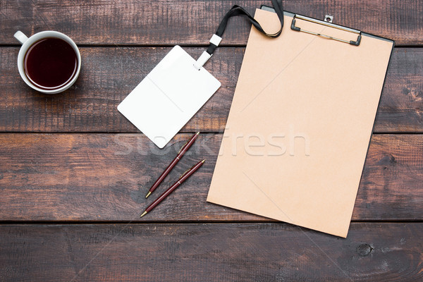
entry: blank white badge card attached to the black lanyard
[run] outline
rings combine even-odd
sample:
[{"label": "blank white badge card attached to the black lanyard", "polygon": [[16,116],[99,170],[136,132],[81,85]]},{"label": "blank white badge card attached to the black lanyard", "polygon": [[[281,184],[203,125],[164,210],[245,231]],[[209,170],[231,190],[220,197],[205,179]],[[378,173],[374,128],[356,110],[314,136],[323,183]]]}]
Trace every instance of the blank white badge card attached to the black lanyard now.
[{"label": "blank white badge card attached to the black lanyard", "polygon": [[118,111],[163,148],[219,89],[221,83],[175,46],[130,92]]}]

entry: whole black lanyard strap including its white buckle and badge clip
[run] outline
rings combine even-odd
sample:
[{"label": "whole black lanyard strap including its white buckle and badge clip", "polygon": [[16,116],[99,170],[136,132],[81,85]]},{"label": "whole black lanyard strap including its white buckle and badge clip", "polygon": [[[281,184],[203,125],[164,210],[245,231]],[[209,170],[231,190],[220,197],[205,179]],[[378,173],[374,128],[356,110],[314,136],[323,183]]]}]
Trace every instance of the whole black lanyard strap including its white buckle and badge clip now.
[{"label": "whole black lanyard strap including its white buckle and badge clip", "polygon": [[278,30],[278,32],[271,33],[271,34],[265,32],[263,30],[262,25],[260,25],[259,22],[257,22],[257,20],[255,20],[255,18],[253,18],[250,15],[250,13],[245,11],[245,9],[243,7],[240,7],[238,5],[234,5],[231,8],[231,10],[229,10],[228,13],[226,13],[226,15],[221,20],[219,27],[217,27],[216,34],[214,34],[212,36],[212,38],[210,39],[209,47],[207,48],[206,51],[203,52],[203,54],[200,56],[200,58],[195,63],[195,65],[194,65],[195,68],[200,70],[200,68],[204,65],[204,63],[206,63],[210,59],[210,57],[213,55],[214,51],[216,50],[216,48],[219,46],[219,43],[221,42],[221,39],[222,39],[221,37],[223,35],[223,32],[225,32],[226,25],[228,25],[228,20],[231,17],[245,16],[247,18],[247,20],[249,20],[250,23],[252,23],[252,25],[254,25],[254,27],[257,28],[257,30],[259,30],[259,32],[262,32],[264,35],[266,35],[268,37],[276,38],[279,35],[281,35],[282,27],[283,27],[282,1],[281,0],[271,0],[271,3],[273,4],[274,10],[275,10],[276,14],[278,15],[279,21],[281,22],[281,28]]}]

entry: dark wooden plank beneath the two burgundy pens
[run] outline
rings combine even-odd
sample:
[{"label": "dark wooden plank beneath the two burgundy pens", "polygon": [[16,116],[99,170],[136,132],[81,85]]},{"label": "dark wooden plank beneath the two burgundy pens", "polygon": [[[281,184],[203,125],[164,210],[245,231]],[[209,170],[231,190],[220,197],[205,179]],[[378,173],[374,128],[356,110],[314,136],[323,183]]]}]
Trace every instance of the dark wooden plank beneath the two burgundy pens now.
[{"label": "dark wooden plank beneath the two burgundy pens", "polygon": [[[269,221],[206,202],[221,134],[202,134],[157,190],[206,163],[154,212],[145,194],[190,134],[159,150],[141,134],[0,135],[3,221]],[[353,220],[422,220],[423,136],[374,135]]]}]

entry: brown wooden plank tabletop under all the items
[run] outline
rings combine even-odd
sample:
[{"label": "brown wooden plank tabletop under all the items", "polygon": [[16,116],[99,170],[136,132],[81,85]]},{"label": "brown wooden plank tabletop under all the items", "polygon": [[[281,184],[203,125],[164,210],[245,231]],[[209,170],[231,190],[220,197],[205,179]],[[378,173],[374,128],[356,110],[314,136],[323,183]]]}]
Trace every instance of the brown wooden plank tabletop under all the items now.
[{"label": "brown wooden plank tabletop under all the items", "polygon": [[[233,4],[253,12],[270,1],[1,1],[0,281],[422,281],[423,2],[283,2],[396,40],[348,238],[206,203],[245,20],[231,19],[207,63],[222,87],[167,149],[116,110],[174,44],[196,58]],[[25,85],[16,30],[75,40],[71,90]],[[206,164],[139,219],[147,189],[197,130],[197,149],[160,189]]]}]

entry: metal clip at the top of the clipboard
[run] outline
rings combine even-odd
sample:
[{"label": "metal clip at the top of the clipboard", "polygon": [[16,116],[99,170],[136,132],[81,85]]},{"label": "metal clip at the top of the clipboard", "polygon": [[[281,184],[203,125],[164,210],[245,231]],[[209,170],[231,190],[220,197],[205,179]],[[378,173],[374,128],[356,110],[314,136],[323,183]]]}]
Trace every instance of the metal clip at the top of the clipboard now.
[{"label": "metal clip at the top of the clipboard", "polygon": [[[338,30],[343,30],[343,31],[346,31],[346,32],[353,32],[353,33],[357,34],[358,37],[357,37],[357,40],[355,40],[355,41],[353,41],[353,40],[348,41],[348,40],[345,40],[345,39],[341,39],[341,38],[337,38],[337,37],[331,37],[329,35],[323,35],[321,33],[312,32],[312,31],[309,31],[309,30],[302,30],[300,27],[295,26],[295,18],[298,18],[300,20],[307,20],[308,22],[317,23],[319,25],[326,25],[327,27],[337,28]],[[328,21],[316,20],[314,18],[308,18],[308,17],[305,17],[305,16],[295,14],[293,21],[291,23],[291,30],[306,32],[306,33],[309,33],[310,35],[317,35],[317,36],[320,36],[320,37],[324,37],[324,38],[327,38],[327,39],[333,39],[333,40],[336,40],[336,41],[339,41],[339,42],[344,42],[344,43],[348,43],[348,44],[355,45],[355,46],[360,45],[360,42],[361,42],[361,31],[360,30],[353,30],[352,28],[349,28],[349,27],[343,27],[341,25],[334,25],[333,23],[331,23],[331,21],[333,19],[332,16],[326,15],[324,18],[325,18],[325,20],[326,19],[329,19],[329,20]]]}]

